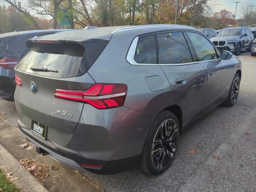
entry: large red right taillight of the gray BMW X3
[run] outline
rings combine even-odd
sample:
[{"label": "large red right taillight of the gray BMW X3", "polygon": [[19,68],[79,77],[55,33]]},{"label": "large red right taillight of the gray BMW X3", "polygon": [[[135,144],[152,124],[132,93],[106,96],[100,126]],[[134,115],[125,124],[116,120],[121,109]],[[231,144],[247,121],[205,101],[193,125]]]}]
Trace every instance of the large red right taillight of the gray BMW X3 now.
[{"label": "large red right taillight of the gray BMW X3", "polygon": [[108,109],[123,106],[126,93],[126,84],[96,83],[84,91],[56,89],[54,96],[60,99],[88,103],[97,109]]}]

